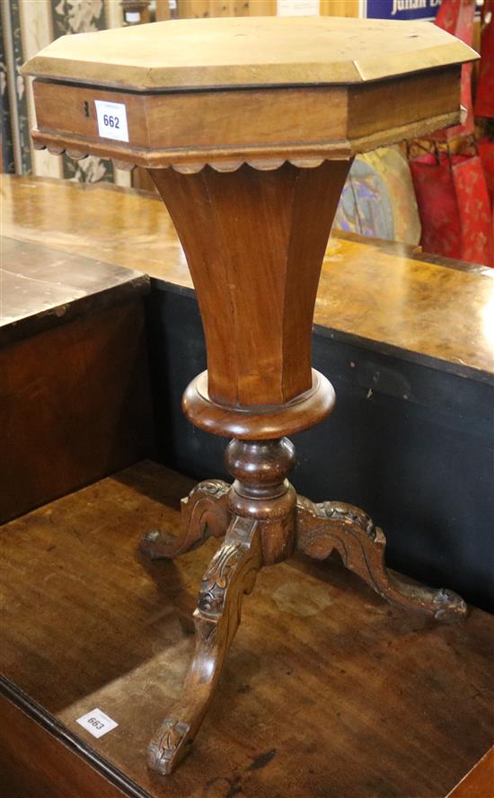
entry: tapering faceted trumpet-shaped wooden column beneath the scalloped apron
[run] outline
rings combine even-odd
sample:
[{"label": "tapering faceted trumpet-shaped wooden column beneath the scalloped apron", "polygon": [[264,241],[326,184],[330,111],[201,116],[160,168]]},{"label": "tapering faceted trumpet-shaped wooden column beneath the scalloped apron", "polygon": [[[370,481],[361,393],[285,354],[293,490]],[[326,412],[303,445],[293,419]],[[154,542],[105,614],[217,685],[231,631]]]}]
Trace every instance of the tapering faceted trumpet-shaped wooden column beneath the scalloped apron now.
[{"label": "tapering faceted trumpet-shaped wooden column beneath the scalloped apron", "polygon": [[151,172],[198,294],[213,401],[283,404],[312,388],[313,308],[348,168]]}]

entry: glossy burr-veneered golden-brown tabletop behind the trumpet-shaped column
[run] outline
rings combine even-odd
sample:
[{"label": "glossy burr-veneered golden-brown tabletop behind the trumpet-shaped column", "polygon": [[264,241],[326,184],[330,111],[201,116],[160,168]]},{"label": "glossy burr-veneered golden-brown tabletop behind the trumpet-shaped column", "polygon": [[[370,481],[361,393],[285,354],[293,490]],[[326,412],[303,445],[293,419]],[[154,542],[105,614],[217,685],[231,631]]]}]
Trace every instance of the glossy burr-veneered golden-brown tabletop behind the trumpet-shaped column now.
[{"label": "glossy burr-veneered golden-brown tabletop behind the trumpet-shaped column", "polygon": [[[2,200],[4,235],[192,287],[171,219],[151,194],[3,175]],[[314,323],[491,380],[494,270],[435,260],[405,245],[332,236]]]}]

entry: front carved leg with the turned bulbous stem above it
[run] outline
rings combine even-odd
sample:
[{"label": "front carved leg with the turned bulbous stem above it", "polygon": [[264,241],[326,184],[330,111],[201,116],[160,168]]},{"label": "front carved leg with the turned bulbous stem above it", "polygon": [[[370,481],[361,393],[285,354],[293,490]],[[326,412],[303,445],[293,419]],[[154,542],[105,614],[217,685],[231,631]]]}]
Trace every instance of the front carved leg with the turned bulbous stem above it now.
[{"label": "front carved leg with the turned bulbous stem above it", "polygon": [[[286,438],[232,440],[226,448],[225,463],[235,477],[225,493],[232,520],[201,582],[194,613],[196,651],[181,700],[148,749],[149,767],[159,773],[172,773],[198,732],[240,624],[243,593],[251,592],[261,565],[293,552],[296,492],[286,476],[294,462]],[[224,510],[223,502],[220,507]]]}]

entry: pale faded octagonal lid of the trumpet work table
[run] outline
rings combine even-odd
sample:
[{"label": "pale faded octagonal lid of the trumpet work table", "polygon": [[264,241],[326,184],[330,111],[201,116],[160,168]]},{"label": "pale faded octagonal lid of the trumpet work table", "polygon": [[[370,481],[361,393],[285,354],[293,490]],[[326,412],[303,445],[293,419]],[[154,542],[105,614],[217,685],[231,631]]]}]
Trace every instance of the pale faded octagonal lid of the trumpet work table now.
[{"label": "pale faded octagonal lid of the trumpet work table", "polygon": [[232,17],[63,36],[22,71],[150,92],[361,84],[474,58],[471,48],[429,22]]}]

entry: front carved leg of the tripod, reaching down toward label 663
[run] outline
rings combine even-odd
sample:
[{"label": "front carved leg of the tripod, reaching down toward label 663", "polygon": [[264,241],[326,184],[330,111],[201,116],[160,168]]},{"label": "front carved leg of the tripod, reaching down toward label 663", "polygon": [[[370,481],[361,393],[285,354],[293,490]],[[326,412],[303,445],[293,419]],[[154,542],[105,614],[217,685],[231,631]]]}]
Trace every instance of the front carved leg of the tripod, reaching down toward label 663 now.
[{"label": "front carved leg of the tripod, reaching down toward label 663", "polygon": [[168,775],[189,752],[240,624],[243,594],[251,592],[260,564],[259,522],[235,517],[201,582],[194,659],[180,701],[149,745],[153,770]]}]

